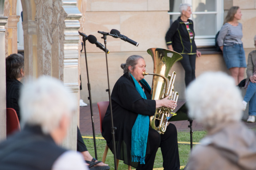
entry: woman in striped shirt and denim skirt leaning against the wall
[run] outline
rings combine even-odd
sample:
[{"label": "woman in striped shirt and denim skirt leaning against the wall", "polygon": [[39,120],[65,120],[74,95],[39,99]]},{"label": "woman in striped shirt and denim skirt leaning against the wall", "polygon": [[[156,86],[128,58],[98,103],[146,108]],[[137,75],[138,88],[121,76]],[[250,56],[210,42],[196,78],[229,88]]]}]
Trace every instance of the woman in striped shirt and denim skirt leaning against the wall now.
[{"label": "woman in striped shirt and denim skirt leaning against the wall", "polygon": [[241,16],[242,13],[238,6],[231,7],[217,39],[226,67],[230,70],[236,85],[244,79],[246,68],[245,52],[241,41],[242,24],[238,22]]}]

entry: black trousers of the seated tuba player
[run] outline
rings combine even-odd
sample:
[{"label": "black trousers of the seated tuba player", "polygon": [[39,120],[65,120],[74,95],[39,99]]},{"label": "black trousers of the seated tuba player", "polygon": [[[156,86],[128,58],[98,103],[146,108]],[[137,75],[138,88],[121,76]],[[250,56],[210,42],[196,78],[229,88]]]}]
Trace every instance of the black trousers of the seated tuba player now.
[{"label": "black trousers of the seated tuba player", "polygon": [[169,124],[163,135],[149,128],[150,154],[145,157],[145,164],[139,164],[137,170],[153,169],[156,152],[161,148],[164,170],[179,170],[180,157],[178,153],[177,129]]}]

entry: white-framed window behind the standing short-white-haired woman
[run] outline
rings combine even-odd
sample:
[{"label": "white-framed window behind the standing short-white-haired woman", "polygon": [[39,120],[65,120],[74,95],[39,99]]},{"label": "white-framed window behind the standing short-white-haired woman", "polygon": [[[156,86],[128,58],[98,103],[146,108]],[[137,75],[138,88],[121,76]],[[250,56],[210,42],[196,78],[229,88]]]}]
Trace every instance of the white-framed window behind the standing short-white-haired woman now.
[{"label": "white-framed window behind the standing short-white-haired woman", "polygon": [[194,23],[196,45],[214,46],[215,35],[223,25],[223,0],[170,0],[170,24],[180,16],[181,3],[192,6],[190,19]]}]

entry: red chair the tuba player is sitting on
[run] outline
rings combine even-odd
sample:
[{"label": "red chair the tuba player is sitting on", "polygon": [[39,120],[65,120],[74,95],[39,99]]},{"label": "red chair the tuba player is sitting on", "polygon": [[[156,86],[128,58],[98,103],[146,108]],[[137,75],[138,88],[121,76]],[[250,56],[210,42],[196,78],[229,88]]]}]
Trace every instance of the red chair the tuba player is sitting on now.
[{"label": "red chair the tuba player is sitting on", "polygon": [[[98,102],[97,104],[98,104],[98,109],[99,109],[99,113],[100,113],[100,127],[101,127],[101,123],[106,114],[109,102],[108,101]],[[101,129],[101,132],[102,132],[102,129]],[[102,160],[101,160],[103,163],[105,163],[105,161],[106,161],[107,152],[108,152],[108,146],[106,144],[105,150],[103,152]],[[117,159],[117,168],[118,168],[118,164],[119,164],[119,159]],[[132,170],[132,167],[130,165],[128,165],[128,170]]]}]

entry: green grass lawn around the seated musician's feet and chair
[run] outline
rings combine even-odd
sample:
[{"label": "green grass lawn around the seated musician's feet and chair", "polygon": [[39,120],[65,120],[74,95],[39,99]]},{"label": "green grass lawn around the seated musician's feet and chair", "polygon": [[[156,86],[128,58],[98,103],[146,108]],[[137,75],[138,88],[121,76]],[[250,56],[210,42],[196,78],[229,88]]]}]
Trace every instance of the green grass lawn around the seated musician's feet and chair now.
[{"label": "green grass lawn around the seated musician's feet and chair", "polygon": [[[207,134],[206,131],[194,131],[193,142],[199,142],[204,136],[206,136],[206,134]],[[102,136],[101,134],[98,134],[96,135],[96,137],[102,137]],[[86,144],[88,151],[92,155],[92,157],[95,157],[93,140],[84,138],[84,142]],[[178,142],[190,142],[190,132],[178,131]],[[101,139],[96,139],[96,145],[97,145],[98,160],[101,160],[105,146],[106,146],[106,141]],[[180,155],[180,165],[186,166],[189,155],[190,155],[190,144],[179,143],[178,149],[179,149],[179,155]],[[108,151],[108,154],[107,154],[106,163],[111,167],[111,169],[114,169],[114,156],[110,150]],[[156,153],[154,168],[161,168],[161,167],[162,167],[162,154],[161,154],[161,149],[159,148],[158,152]],[[128,169],[127,165],[124,164],[122,160],[120,160],[118,165],[118,170],[127,170],[127,169]]]}]

